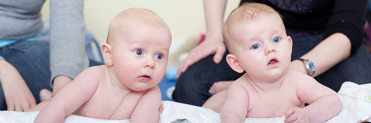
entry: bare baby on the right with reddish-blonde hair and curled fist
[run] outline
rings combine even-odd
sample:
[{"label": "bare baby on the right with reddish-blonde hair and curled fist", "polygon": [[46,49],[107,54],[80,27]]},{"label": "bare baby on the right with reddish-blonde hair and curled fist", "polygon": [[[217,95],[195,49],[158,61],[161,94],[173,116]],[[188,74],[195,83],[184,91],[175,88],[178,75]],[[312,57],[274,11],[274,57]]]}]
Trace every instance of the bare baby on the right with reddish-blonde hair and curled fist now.
[{"label": "bare baby on the right with reddish-blonde hair and curled fist", "polygon": [[229,66],[246,74],[203,105],[220,111],[222,123],[283,115],[285,123],[322,123],[342,109],[335,91],[289,68],[292,39],[273,8],[245,3],[234,9],[223,26],[223,38]]}]

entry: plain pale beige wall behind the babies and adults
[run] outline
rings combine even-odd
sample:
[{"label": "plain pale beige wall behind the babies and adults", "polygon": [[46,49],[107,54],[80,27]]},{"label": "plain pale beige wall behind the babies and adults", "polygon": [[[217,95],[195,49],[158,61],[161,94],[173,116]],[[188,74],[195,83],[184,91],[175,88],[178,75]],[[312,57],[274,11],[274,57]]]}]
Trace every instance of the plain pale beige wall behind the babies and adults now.
[{"label": "plain pale beige wall behind the babies and adults", "polygon": [[[240,0],[227,1],[225,17]],[[119,12],[132,8],[147,8],[158,14],[169,26],[173,36],[170,65],[177,65],[177,55],[193,48],[205,33],[202,0],[85,0],[85,26],[99,43],[106,41],[109,22]],[[49,19],[49,0],[43,5],[42,18]]]}]

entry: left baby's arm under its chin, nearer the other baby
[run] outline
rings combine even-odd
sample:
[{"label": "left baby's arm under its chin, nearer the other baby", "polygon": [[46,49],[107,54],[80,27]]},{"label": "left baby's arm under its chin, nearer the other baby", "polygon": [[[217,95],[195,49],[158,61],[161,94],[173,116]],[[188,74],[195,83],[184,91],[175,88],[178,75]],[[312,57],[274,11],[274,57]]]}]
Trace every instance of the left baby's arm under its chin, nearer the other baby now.
[{"label": "left baby's arm under its chin, nearer the other baby", "polygon": [[161,91],[156,85],[150,88],[139,99],[137,106],[130,117],[131,123],[158,123],[160,120],[159,108],[161,105]]}]

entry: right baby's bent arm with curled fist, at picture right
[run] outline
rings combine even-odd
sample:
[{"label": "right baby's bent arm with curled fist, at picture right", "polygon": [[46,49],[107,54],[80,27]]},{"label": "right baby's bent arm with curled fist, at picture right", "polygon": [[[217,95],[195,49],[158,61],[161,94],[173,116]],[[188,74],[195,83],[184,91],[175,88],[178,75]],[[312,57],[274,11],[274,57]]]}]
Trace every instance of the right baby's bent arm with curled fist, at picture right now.
[{"label": "right baby's bent arm with curled fist, at picture right", "polygon": [[322,123],[338,115],[342,109],[342,102],[335,91],[318,83],[310,76],[306,75],[302,80],[304,81],[295,82],[296,94],[301,102],[309,105],[288,110],[285,123],[294,121]]}]

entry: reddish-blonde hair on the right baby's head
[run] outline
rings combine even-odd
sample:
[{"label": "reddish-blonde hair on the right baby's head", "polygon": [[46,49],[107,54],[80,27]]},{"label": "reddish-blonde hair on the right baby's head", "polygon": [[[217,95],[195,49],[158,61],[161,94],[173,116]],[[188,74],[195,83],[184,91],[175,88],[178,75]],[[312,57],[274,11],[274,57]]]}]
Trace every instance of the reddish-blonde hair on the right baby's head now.
[{"label": "reddish-blonde hair on the right baby's head", "polygon": [[242,4],[241,6],[235,8],[231,14],[228,16],[226,22],[223,25],[223,39],[227,45],[227,48],[230,53],[231,51],[231,29],[236,26],[237,24],[247,23],[249,21],[254,21],[255,18],[259,17],[260,15],[269,15],[269,14],[278,14],[281,18],[282,16],[275,11],[272,7],[269,7],[265,4],[260,3],[251,3],[247,2]]}]

